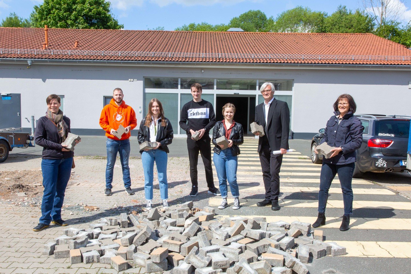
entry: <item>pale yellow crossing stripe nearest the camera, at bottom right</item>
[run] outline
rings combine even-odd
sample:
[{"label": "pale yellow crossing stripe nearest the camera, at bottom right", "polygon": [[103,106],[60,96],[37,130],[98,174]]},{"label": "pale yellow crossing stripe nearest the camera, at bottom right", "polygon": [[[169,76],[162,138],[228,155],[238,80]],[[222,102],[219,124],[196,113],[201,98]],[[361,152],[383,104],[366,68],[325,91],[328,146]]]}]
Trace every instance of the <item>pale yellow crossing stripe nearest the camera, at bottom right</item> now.
[{"label": "pale yellow crossing stripe nearest the camera, at bottom right", "polygon": [[[345,257],[370,258],[411,258],[410,242],[366,242],[366,241],[325,241],[336,242],[347,250]],[[404,272],[406,273],[406,272]]]}]

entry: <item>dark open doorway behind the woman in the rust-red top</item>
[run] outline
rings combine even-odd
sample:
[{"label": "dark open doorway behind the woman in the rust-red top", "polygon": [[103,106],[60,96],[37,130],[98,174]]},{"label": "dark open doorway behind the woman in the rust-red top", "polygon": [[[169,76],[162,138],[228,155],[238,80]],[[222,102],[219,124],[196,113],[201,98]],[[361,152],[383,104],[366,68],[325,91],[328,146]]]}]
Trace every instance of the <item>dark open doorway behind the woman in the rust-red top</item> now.
[{"label": "dark open doorway behind the woman in the rust-red top", "polygon": [[[255,96],[254,96],[255,98]],[[234,104],[236,106],[236,114],[234,114],[234,121],[236,123],[240,123],[244,130],[244,134],[248,132],[248,97],[235,97],[232,95],[230,97],[216,97],[216,104],[215,104],[215,117],[217,121],[222,121],[223,117],[223,106],[227,103]],[[254,99],[255,104],[255,99]],[[253,114],[254,117],[254,114]]]}]

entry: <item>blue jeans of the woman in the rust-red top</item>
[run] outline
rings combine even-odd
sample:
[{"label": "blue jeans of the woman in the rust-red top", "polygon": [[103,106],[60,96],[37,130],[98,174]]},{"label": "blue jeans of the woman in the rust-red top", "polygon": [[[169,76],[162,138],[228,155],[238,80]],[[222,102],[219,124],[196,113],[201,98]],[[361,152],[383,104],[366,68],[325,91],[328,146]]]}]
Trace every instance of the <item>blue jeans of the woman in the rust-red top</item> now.
[{"label": "blue jeans of the woman in the rust-red top", "polygon": [[233,198],[238,198],[240,193],[237,184],[237,156],[233,156],[231,148],[226,148],[221,150],[220,154],[214,152],[212,161],[217,171],[221,198],[227,198],[227,180],[230,184],[231,195]]}]

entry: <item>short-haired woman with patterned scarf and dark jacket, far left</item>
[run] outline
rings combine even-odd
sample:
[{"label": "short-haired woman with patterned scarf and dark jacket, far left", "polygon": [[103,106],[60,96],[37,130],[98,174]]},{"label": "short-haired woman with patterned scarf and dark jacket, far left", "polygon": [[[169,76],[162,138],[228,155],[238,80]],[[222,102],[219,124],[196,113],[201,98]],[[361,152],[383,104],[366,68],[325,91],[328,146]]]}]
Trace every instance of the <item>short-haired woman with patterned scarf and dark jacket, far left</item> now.
[{"label": "short-haired woman with patterned scarf and dark jacket, far left", "polygon": [[70,132],[70,119],[63,116],[63,112],[60,110],[60,97],[51,94],[47,97],[46,103],[46,116],[39,118],[34,134],[36,145],[43,147],[44,187],[42,216],[39,224],[33,228],[34,231],[48,228],[50,222],[59,226],[68,225],[61,219],[61,207],[74,164],[74,153],[65,148],[67,145],[61,144]]}]

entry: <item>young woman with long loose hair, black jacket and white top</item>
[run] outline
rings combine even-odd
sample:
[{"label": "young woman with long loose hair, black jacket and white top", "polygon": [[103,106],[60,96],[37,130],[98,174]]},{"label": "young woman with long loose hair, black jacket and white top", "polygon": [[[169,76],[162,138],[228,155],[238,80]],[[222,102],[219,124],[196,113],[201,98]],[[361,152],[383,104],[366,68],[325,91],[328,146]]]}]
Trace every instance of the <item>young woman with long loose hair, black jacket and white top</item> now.
[{"label": "young woman with long loose hair, black jacket and white top", "polygon": [[163,207],[168,207],[167,153],[169,153],[169,148],[167,145],[171,144],[173,140],[173,127],[171,127],[169,119],[164,117],[163,106],[157,98],[151,99],[148,104],[148,113],[141,120],[138,138],[139,144],[144,141],[157,143],[157,146],[151,150],[140,150],[144,170],[144,193],[147,200],[147,209],[152,208],[154,162],[157,166],[160,198]]}]

